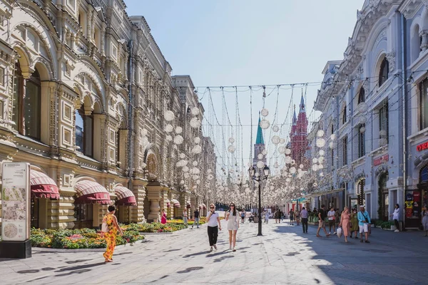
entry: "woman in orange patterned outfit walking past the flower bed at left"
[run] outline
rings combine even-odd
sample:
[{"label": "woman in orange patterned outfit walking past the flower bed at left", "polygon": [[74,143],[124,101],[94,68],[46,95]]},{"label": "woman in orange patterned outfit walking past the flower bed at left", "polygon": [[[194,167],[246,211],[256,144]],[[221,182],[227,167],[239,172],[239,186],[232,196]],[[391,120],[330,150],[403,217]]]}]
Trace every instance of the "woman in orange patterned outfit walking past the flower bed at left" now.
[{"label": "woman in orange patterned outfit walking past the flower bed at left", "polygon": [[113,262],[113,252],[116,247],[116,235],[118,232],[123,235],[122,229],[118,225],[118,219],[114,215],[115,212],[116,207],[110,205],[108,206],[108,214],[103,217],[101,230],[103,231],[103,236],[106,238],[107,244],[106,252],[103,254],[103,257],[105,258],[104,262]]}]

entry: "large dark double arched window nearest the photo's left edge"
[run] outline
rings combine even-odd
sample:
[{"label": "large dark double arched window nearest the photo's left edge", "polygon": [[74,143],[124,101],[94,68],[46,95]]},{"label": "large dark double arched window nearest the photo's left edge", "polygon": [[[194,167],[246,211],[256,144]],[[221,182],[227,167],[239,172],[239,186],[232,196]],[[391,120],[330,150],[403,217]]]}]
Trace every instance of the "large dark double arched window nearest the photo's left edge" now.
[{"label": "large dark double arched window nearest the photo's left edge", "polygon": [[12,115],[15,123],[14,128],[22,135],[40,140],[40,109],[41,82],[39,71],[36,69],[29,79],[24,79],[21,67],[19,63],[16,63]]}]

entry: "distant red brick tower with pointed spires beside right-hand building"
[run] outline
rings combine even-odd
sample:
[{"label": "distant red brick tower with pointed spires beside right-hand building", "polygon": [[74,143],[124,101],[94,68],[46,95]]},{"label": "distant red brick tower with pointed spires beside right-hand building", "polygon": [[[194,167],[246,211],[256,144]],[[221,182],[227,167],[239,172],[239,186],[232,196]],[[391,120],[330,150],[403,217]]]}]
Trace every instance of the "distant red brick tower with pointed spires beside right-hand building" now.
[{"label": "distant red brick tower with pointed spires beside right-hand building", "polygon": [[305,100],[300,99],[300,111],[296,118],[296,106],[294,115],[292,116],[292,127],[290,133],[290,145],[291,145],[291,158],[295,160],[295,167],[298,168],[301,164],[304,166],[303,170],[307,170],[309,163],[305,157],[307,150],[307,118]]}]

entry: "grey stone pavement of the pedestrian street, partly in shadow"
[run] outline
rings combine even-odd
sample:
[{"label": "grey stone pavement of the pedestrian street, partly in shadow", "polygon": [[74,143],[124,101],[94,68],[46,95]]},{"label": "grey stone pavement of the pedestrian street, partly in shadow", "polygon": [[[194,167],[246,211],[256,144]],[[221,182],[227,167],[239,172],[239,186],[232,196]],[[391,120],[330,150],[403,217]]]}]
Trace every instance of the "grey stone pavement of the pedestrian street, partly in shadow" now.
[{"label": "grey stone pavement of the pedestrian street, partly in shadow", "polygon": [[[225,223],[223,222],[225,225]],[[209,252],[206,227],[118,247],[114,262],[102,252],[36,252],[31,259],[0,259],[1,284],[428,284],[428,237],[421,232],[373,229],[371,243],[315,237],[287,222],[244,224],[237,252],[220,232]]]}]

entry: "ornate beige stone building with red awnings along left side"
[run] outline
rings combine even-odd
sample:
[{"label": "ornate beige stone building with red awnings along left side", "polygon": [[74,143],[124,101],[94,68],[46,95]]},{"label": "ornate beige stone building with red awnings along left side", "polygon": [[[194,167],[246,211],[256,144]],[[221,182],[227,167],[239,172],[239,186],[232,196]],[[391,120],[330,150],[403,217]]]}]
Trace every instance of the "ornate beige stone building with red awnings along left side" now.
[{"label": "ornate beige stone building with red awnings along left side", "polygon": [[[202,179],[175,167],[180,155],[201,160],[190,149],[203,134],[187,110],[202,120],[203,106],[190,76],[186,93],[178,88],[146,20],[125,9],[123,1],[0,5],[8,31],[0,36],[0,162],[31,164],[34,227],[99,227],[108,204],[118,205],[119,222],[151,222],[172,199],[180,213],[208,203],[190,192],[203,193]],[[185,130],[178,146],[164,130],[167,110]]]}]

